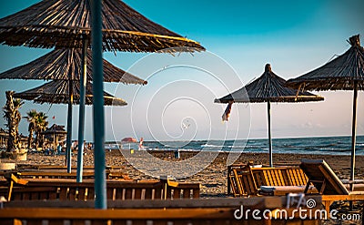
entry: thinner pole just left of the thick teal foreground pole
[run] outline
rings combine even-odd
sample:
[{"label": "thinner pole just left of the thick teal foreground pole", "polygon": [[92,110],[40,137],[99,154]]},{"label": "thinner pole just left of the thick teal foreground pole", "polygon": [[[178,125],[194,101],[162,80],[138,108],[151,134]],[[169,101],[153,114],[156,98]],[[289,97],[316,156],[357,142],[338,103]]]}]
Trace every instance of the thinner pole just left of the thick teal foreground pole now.
[{"label": "thinner pole just left of the thick teal foreground pole", "polygon": [[85,131],[85,100],[86,100],[86,73],[87,73],[87,39],[82,41],[82,70],[80,77],[80,105],[78,118],[78,152],[76,181],[82,182],[84,170],[84,131]]}]

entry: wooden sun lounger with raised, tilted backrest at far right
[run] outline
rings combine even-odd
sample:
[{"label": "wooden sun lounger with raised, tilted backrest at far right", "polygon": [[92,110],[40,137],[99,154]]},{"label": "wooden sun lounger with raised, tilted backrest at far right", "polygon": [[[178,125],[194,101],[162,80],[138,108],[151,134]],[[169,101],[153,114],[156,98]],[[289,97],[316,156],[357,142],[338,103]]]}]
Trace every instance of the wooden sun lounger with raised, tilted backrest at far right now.
[{"label": "wooden sun lounger with raised, tilted backrest at far right", "polygon": [[305,193],[312,183],[322,195],[322,202],[327,210],[336,200],[364,200],[364,191],[350,192],[325,160],[302,159],[299,167],[308,176]]}]

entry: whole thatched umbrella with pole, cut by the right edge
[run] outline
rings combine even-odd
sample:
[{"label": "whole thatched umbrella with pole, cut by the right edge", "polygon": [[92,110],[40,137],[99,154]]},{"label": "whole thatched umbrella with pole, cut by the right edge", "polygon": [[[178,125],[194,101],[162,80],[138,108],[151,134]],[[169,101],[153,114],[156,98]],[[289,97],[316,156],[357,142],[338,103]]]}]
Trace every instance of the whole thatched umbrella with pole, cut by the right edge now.
[{"label": "whole thatched umbrella with pole, cut by the right edge", "polygon": [[[307,90],[353,90],[353,116],[351,129],[350,180],[354,180],[355,142],[357,131],[358,90],[364,90],[364,48],[358,36],[349,38],[350,48],[341,56],[300,77],[289,79],[287,85]],[[351,185],[354,189],[354,185]]]}]

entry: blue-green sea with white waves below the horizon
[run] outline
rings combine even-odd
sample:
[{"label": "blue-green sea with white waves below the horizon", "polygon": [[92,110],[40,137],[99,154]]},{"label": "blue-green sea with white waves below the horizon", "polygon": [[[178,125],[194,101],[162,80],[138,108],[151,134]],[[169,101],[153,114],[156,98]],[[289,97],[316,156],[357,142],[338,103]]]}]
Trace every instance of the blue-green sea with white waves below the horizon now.
[{"label": "blue-green sea with white waves below the horizon", "polygon": [[[350,155],[350,137],[325,138],[274,138],[273,153]],[[192,141],[145,141],[148,150],[209,150],[268,152],[268,139],[247,140],[192,140]],[[123,145],[122,148],[128,148]],[[137,149],[137,144],[131,148]],[[357,137],[356,154],[364,155],[364,136]]]}]

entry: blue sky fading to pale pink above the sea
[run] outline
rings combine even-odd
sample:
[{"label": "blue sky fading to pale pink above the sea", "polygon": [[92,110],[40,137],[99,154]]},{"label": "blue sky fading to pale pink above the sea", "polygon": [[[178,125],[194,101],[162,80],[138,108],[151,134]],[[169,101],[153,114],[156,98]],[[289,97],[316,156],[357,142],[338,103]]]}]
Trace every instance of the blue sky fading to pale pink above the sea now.
[{"label": "blue sky fading to pale pink above the sea", "polygon": [[[14,14],[36,0],[1,1],[0,17]],[[234,104],[221,122],[225,105],[217,97],[272,70],[285,79],[298,77],[349,49],[349,36],[364,35],[362,0],[207,1],[126,0],[142,15],[181,36],[196,40],[207,52],[190,54],[105,53],[115,66],[147,79],[148,85],[105,84],[127,107],[106,107],[106,140],[144,137],[157,140],[267,138],[266,104]],[[361,39],[361,42],[363,40]],[[0,46],[0,72],[21,66],[49,49]],[[0,106],[5,90],[24,91],[43,81],[0,80]],[[319,103],[272,105],[272,137],[349,136],[352,92],[319,92]],[[358,134],[364,134],[363,95],[358,98]],[[65,105],[25,101],[20,112],[44,111],[49,123],[66,125]],[[77,138],[74,107],[73,138]],[[92,140],[92,111],[86,107],[86,140]],[[5,120],[0,119],[0,127]],[[27,134],[22,120],[19,130]]]}]

